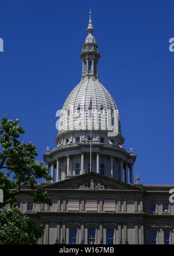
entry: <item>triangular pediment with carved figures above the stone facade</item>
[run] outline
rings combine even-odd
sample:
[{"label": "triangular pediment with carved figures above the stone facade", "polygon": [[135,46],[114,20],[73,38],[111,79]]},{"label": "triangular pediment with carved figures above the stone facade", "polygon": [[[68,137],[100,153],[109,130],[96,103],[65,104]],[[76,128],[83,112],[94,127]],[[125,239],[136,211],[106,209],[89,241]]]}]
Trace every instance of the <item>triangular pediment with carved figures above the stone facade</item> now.
[{"label": "triangular pediment with carved figures above the stone facade", "polygon": [[130,183],[121,182],[104,175],[96,174],[96,172],[88,172],[74,176],[64,181],[50,183],[42,186],[42,190],[57,189],[79,189],[79,190],[141,190],[143,189]]}]

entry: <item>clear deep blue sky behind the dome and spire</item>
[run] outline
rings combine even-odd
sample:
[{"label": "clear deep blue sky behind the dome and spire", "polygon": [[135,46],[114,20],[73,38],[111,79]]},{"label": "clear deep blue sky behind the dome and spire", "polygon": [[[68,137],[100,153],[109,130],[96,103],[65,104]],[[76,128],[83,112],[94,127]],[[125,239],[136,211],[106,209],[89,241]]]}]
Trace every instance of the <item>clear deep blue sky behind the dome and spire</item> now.
[{"label": "clear deep blue sky behind the dome and spire", "polygon": [[19,118],[38,160],[56,146],[56,111],[81,80],[92,8],[99,80],[117,104],[144,184],[174,183],[173,1],[1,1],[0,118]]}]

